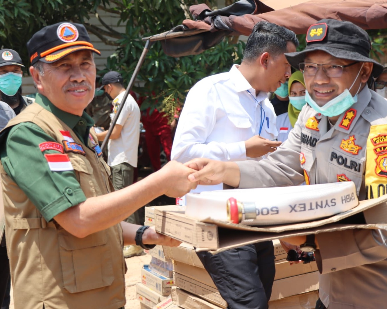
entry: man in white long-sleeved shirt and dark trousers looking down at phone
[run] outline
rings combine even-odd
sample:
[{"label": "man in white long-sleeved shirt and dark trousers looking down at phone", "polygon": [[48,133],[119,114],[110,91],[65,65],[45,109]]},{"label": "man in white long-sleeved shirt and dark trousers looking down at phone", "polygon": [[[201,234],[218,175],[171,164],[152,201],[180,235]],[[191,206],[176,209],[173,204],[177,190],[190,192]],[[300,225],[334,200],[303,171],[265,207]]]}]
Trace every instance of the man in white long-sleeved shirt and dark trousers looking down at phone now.
[{"label": "man in white long-sleeved shirt and dark trousers looking down at phone", "polygon": [[[278,132],[267,92],[274,92],[291,75],[284,53],[296,46],[293,31],[268,22],[255,25],[241,65],[204,78],[188,93],[172,160],[260,160],[274,151],[281,143],[271,141]],[[197,254],[229,309],[267,309],[275,274],[271,241],[216,255]]]}]

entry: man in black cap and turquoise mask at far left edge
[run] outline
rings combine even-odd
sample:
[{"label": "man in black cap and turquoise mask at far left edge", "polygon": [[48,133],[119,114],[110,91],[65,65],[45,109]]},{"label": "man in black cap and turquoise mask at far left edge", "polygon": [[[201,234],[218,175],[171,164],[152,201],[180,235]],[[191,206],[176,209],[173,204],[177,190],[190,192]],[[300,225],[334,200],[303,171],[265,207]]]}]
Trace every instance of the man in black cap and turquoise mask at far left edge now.
[{"label": "man in black cap and turquoise mask at far left edge", "polygon": [[32,98],[21,95],[22,68],[22,59],[16,51],[10,48],[0,50],[0,100],[12,107],[16,115],[34,102]]}]

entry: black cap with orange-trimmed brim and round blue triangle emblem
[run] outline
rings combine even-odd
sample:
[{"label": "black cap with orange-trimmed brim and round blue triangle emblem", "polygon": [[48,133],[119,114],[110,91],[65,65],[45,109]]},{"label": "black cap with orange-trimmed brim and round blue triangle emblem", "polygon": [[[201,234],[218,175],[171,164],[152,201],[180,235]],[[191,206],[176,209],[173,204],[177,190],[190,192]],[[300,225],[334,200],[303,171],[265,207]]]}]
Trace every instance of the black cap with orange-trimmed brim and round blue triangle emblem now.
[{"label": "black cap with orange-trimmed brim and round blue triangle emblem", "polygon": [[53,63],[82,49],[101,54],[91,44],[84,25],[71,22],[58,22],[39,30],[27,42],[27,49],[31,65],[39,60]]}]

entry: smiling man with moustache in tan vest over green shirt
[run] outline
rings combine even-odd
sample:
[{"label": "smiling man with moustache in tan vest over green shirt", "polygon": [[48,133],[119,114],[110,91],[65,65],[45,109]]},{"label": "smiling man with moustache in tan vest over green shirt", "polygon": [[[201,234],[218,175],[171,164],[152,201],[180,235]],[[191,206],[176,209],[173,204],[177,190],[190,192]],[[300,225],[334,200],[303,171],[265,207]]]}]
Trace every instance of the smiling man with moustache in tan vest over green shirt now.
[{"label": "smiling man with moustache in tan vest over green shirt", "polygon": [[99,54],[81,24],[44,27],[27,42],[35,103],[0,134],[5,235],[15,308],[118,309],[125,305],[123,245],[177,245],[122,220],[167,194],[196,187],[176,161],[114,191],[84,112]]}]

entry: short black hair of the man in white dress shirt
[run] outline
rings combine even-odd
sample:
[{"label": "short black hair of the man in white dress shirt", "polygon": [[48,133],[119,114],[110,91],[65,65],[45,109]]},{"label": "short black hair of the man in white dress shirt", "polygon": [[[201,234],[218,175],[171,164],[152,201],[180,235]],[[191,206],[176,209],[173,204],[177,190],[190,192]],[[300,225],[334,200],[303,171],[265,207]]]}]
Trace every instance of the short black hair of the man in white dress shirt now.
[{"label": "short black hair of the man in white dress shirt", "polygon": [[296,47],[300,44],[293,31],[270,22],[258,22],[247,39],[243,61],[254,61],[265,52],[274,56],[286,53],[288,41]]}]

